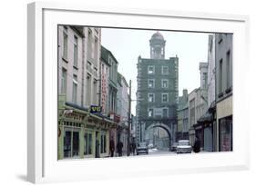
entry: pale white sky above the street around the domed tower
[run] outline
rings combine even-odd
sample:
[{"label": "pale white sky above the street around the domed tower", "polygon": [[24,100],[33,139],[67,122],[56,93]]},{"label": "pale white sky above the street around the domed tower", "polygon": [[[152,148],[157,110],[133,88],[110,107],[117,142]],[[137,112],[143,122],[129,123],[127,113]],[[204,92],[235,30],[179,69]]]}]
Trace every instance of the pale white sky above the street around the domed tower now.
[{"label": "pale white sky above the street around the domed tower", "polygon": [[[150,58],[149,40],[156,30],[102,28],[101,44],[118,60],[118,72],[131,80],[132,100],[136,100],[138,56]],[[207,62],[208,33],[160,31],[166,40],[165,58],[179,57],[179,96],[183,89],[200,87],[200,62]],[[136,115],[136,102],[131,113]]]}]

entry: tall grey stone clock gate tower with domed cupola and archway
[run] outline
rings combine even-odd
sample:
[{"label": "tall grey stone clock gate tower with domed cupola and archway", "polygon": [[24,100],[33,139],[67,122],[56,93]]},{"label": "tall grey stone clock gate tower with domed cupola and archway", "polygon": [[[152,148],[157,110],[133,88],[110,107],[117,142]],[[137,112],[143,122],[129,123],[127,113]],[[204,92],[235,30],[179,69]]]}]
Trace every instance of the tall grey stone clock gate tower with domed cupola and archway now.
[{"label": "tall grey stone clock gate tower with domed cupola and archway", "polygon": [[162,124],[170,131],[169,141],[175,141],[179,58],[165,59],[165,44],[163,36],[157,32],[149,40],[150,58],[138,57],[137,117],[142,141],[152,124]]}]

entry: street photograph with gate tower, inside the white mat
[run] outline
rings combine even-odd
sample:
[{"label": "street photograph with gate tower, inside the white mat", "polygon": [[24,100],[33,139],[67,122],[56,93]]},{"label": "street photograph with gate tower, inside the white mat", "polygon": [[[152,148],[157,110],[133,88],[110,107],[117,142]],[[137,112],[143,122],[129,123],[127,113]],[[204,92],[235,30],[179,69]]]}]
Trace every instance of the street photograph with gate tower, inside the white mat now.
[{"label": "street photograph with gate tower, inside the white mat", "polygon": [[232,152],[232,34],[58,25],[57,159]]}]

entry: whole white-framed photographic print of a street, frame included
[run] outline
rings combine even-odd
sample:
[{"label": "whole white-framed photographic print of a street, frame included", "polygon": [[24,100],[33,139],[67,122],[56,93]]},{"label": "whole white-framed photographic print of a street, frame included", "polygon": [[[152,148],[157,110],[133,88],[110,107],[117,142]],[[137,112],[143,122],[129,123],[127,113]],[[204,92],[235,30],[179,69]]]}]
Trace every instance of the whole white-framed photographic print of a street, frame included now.
[{"label": "whole white-framed photographic print of a street, frame included", "polygon": [[28,181],[248,169],[248,22],[28,5]]}]

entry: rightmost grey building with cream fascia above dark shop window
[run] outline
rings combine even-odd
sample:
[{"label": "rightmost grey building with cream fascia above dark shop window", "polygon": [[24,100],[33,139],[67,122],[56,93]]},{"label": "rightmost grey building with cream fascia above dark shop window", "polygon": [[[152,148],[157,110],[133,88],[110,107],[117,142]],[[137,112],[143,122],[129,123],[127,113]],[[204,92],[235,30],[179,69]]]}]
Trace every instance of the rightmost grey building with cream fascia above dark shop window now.
[{"label": "rightmost grey building with cream fascia above dark shop window", "polygon": [[232,151],[232,34],[215,34],[216,150]]}]

